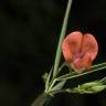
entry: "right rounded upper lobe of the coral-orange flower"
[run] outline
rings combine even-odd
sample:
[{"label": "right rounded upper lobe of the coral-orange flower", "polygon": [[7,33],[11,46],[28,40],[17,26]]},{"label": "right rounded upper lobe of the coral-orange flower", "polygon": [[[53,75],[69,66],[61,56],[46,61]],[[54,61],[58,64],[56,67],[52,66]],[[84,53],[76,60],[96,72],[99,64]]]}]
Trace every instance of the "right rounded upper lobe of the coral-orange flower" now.
[{"label": "right rounded upper lobe of the coral-orange flower", "polygon": [[82,52],[89,53],[91,59],[94,60],[98,53],[98,44],[92,34],[84,34]]}]

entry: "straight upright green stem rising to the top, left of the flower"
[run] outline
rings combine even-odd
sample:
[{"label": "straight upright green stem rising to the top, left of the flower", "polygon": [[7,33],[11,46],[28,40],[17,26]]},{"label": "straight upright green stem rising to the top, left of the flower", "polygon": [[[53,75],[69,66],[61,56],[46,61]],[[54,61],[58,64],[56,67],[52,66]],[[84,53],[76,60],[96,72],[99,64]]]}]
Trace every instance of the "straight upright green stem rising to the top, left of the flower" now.
[{"label": "straight upright green stem rising to the top, left of the flower", "polygon": [[53,77],[56,76],[57,68],[59,68],[59,65],[60,65],[60,60],[61,60],[61,55],[62,55],[61,45],[62,45],[62,41],[65,36],[65,32],[66,32],[66,28],[67,28],[67,20],[68,20],[68,15],[70,15],[70,11],[71,11],[71,6],[72,6],[72,0],[68,0],[65,17],[64,17],[64,21],[63,21],[63,25],[62,25],[62,31],[61,31],[61,35],[60,35],[60,41],[59,41],[59,45],[57,45],[57,50],[56,50]]}]

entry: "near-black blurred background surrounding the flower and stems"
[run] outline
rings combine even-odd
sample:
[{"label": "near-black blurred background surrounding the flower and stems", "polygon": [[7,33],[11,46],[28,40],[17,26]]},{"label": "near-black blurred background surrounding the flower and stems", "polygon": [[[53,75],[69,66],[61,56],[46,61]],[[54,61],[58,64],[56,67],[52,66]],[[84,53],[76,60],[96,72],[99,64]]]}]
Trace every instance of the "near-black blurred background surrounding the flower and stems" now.
[{"label": "near-black blurred background surrounding the flower and stems", "polygon": [[[0,106],[30,106],[43,91],[42,75],[53,65],[66,2],[0,0]],[[66,33],[75,30],[94,34],[99,45],[95,63],[106,61],[106,0],[73,0]],[[106,106],[106,91],[53,99],[54,106]]]}]

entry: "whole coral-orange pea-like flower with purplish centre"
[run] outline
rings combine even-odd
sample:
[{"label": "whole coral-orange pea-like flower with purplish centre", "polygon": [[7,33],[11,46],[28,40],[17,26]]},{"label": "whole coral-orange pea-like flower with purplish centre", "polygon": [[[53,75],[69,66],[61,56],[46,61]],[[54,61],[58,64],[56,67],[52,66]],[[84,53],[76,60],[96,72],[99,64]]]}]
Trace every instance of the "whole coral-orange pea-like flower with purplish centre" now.
[{"label": "whole coral-orange pea-like flower with purplish centre", "polygon": [[98,44],[92,34],[86,33],[83,35],[81,32],[75,31],[64,39],[62,51],[65,61],[77,73],[81,73],[91,68],[92,62],[98,52]]}]

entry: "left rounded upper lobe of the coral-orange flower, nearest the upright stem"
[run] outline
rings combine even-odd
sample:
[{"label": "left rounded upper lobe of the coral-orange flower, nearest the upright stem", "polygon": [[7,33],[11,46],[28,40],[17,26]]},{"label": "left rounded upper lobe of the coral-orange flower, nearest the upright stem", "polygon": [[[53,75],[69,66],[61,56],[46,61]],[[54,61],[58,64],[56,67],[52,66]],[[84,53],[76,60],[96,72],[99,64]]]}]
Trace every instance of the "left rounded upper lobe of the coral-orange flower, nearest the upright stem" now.
[{"label": "left rounded upper lobe of the coral-orange flower, nearest the upright stem", "polygon": [[72,56],[80,52],[83,34],[78,31],[68,34],[63,43],[62,51],[66,61],[72,61]]}]

